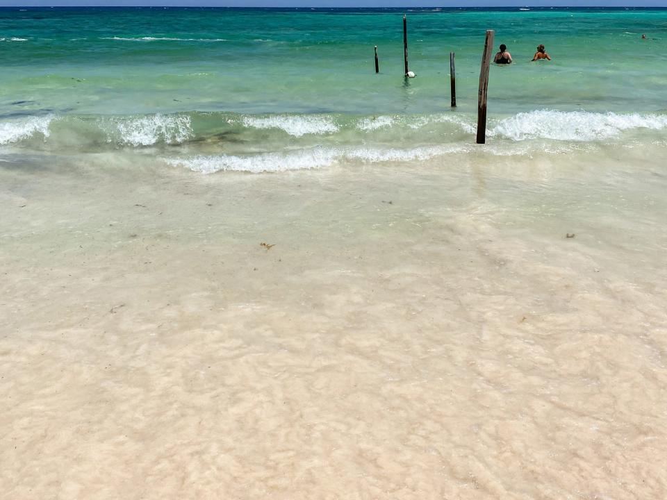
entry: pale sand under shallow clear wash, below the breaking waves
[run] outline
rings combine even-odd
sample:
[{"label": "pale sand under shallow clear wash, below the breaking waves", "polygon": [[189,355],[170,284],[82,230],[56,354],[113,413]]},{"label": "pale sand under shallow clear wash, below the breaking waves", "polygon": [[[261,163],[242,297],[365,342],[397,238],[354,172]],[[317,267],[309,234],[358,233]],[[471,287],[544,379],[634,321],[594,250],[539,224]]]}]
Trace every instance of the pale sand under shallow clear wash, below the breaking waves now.
[{"label": "pale sand under shallow clear wash, below the breaking waves", "polygon": [[0,497],[666,497],[661,151],[0,164]]}]

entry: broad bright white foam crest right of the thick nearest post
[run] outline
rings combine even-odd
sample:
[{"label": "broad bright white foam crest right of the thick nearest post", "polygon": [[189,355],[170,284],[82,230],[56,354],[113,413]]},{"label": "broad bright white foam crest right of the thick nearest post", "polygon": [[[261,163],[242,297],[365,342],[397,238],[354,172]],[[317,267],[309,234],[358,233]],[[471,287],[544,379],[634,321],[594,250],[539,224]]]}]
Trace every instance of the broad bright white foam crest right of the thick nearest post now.
[{"label": "broad bright white foam crest right of the thick nearest post", "polygon": [[503,119],[489,133],[516,141],[550,139],[586,142],[614,138],[632,128],[661,130],[666,127],[667,115],[537,110]]}]

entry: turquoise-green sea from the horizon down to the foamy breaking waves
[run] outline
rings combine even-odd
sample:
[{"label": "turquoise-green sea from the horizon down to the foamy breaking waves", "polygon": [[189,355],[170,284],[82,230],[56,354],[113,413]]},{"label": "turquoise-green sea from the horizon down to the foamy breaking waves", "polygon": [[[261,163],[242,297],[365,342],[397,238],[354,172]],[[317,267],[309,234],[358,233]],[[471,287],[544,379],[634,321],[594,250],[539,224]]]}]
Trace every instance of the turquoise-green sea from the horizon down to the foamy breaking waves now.
[{"label": "turquoise-green sea from the horizon down to the foamy breaking waves", "polygon": [[[497,147],[663,139],[663,9],[3,8],[0,144],[53,153],[180,145],[188,151],[163,158],[242,162],[306,151],[299,161],[315,166],[430,158],[471,142],[488,28],[516,60],[491,71]],[[529,62],[540,43],[551,63]],[[272,162],[261,158],[261,168]]]}]

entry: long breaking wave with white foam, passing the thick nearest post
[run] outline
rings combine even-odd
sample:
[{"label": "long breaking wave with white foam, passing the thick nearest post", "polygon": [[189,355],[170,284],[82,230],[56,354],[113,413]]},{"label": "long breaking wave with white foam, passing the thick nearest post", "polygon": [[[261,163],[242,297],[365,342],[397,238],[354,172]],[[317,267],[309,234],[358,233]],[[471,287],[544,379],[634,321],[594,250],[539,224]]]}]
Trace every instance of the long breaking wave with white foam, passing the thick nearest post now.
[{"label": "long breaking wave with white foam, passing the thick nearest post", "polygon": [[[537,145],[543,151],[561,151],[563,148],[557,144],[570,147],[582,142],[618,142],[622,134],[629,134],[626,138],[634,140],[636,137],[632,134],[636,131],[659,132],[666,128],[667,115],[661,114],[537,110],[491,119],[487,135],[501,146],[526,143],[532,144],[530,150]],[[241,165],[249,155],[256,153],[315,151],[313,148],[322,146],[338,148],[331,153],[335,158],[365,160],[370,154],[374,158],[385,158],[383,161],[394,157],[419,160],[438,154],[433,147],[473,144],[475,131],[475,117],[463,113],[374,117],[199,112],[134,116],[44,115],[0,120],[0,144],[54,152],[73,148],[88,152],[183,147],[194,149],[195,153],[214,153],[195,155],[199,158],[197,165],[215,163],[222,165],[220,169],[233,169],[234,165]],[[648,140],[664,140],[664,136],[652,133]],[[364,148],[359,149],[361,146]],[[221,150],[229,158],[217,154]],[[415,156],[406,158],[406,150]],[[317,153],[320,160],[322,151]],[[331,154],[327,153],[327,161]],[[254,158],[256,164],[261,163],[261,157]],[[272,157],[272,160],[276,158]],[[320,165],[320,160],[314,163]]]}]

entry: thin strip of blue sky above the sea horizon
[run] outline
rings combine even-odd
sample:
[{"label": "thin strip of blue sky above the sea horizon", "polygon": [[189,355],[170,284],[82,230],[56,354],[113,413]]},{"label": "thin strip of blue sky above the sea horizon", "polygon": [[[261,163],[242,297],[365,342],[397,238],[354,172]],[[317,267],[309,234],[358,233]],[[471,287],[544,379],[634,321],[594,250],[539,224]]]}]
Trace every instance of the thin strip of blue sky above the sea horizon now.
[{"label": "thin strip of blue sky above the sea horizon", "polygon": [[667,7],[667,0],[0,0],[9,6],[220,6],[220,7]]}]

